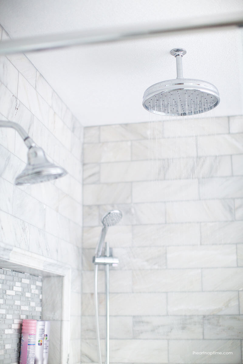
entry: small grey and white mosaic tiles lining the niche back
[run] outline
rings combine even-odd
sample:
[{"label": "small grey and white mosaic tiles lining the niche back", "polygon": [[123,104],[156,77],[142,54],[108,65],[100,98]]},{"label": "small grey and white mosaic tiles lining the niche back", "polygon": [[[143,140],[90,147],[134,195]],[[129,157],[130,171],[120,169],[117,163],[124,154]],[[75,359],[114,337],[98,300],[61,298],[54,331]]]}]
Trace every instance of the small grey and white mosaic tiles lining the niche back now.
[{"label": "small grey and white mosaic tiles lining the niche back", "polygon": [[41,320],[42,277],[0,268],[0,363],[19,363],[24,318]]}]

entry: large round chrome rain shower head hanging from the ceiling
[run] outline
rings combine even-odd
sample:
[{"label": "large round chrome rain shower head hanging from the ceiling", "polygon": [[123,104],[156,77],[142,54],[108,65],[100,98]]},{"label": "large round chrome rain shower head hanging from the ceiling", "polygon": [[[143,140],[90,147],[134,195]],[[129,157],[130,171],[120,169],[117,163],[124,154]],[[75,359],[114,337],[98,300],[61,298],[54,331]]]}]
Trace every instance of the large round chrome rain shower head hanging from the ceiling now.
[{"label": "large round chrome rain shower head hanging from the ceiling", "polygon": [[142,101],[146,110],[160,115],[187,116],[201,114],[219,104],[219,91],[211,83],[183,78],[182,57],[186,53],[183,48],[171,50],[176,58],[177,78],[147,88]]}]

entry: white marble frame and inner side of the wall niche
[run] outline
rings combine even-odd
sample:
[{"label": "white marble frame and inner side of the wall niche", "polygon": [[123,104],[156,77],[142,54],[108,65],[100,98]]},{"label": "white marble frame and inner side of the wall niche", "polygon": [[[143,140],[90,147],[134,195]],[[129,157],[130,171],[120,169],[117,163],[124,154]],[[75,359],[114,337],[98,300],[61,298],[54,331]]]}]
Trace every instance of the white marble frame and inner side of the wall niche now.
[{"label": "white marble frame and inner side of the wall niche", "polygon": [[71,267],[3,242],[0,242],[0,266],[42,276],[42,320],[51,321],[48,361],[68,363]]}]

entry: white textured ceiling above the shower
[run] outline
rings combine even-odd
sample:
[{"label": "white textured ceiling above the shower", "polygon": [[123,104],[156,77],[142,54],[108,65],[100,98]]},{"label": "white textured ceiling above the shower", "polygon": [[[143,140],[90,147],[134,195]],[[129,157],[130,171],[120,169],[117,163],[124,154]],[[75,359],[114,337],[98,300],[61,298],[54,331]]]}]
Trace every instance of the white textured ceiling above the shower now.
[{"label": "white textured ceiling above the shower", "polygon": [[[12,39],[77,30],[174,21],[243,11],[242,0],[0,0],[0,23]],[[142,95],[176,78],[172,48],[187,50],[185,78],[213,83],[216,116],[243,114],[243,51],[239,29],[178,33],[149,39],[27,54],[84,126],[149,120]],[[206,116],[206,114],[205,114]]]}]

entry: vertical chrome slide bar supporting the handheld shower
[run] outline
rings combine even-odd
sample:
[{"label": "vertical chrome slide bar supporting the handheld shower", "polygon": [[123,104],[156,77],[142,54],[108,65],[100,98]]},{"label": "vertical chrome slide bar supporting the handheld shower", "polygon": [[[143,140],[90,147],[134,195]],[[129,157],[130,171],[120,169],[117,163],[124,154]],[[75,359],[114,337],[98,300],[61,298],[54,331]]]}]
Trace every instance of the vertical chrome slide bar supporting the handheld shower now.
[{"label": "vertical chrome slide bar supporting the handheld shower", "polygon": [[[106,242],[106,257],[110,255],[109,243]],[[105,266],[105,289],[106,289],[106,364],[110,363],[110,266]]]}]

